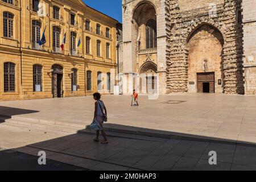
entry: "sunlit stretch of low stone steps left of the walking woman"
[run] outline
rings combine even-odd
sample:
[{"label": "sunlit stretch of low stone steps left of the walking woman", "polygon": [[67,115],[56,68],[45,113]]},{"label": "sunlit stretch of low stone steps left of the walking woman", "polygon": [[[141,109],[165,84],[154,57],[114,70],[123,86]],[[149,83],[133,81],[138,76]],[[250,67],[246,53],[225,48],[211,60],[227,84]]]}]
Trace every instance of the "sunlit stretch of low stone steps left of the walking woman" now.
[{"label": "sunlit stretch of low stone steps left of the walking woman", "polygon": [[77,133],[81,128],[71,127],[71,126],[62,126],[62,125],[53,125],[50,123],[34,122],[34,121],[19,121],[16,119],[6,119],[6,123],[11,123],[15,125],[23,125],[28,127],[36,127],[40,129],[61,131],[65,133]]}]

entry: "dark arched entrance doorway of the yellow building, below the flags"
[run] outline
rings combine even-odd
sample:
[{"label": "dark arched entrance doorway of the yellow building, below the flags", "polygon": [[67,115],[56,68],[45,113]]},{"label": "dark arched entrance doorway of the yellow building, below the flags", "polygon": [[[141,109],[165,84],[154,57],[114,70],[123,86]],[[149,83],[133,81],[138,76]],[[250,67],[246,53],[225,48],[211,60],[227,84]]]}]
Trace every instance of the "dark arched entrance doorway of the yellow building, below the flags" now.
[{"label": "dark arched entrance doorway of the yellow building, below the flags", "polygon": [[63,97],[63,67],[58,64],[52,65],[52,95]]}]

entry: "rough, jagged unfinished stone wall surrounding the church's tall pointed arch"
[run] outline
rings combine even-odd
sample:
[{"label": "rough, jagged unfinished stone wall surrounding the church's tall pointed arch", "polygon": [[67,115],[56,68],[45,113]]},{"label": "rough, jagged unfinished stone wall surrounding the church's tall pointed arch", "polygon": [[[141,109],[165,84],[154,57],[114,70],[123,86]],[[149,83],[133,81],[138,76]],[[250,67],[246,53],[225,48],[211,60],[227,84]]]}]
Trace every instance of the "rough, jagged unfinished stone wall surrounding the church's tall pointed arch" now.
[{"label": "rough, jagged unfinished stone wall surrounding the church's tall pointed arch", "polygon": [[224,3],[216,5],[216,15],[211,14],[209,6],[189,11],[183,11],[181,6],[182,2],[179,4],[177,0],[166,0],[167,88],[170,92],[188,91],[187,40],[191,32],[202,24],[210,24],[216,27],[224,38],[222,53],[224,93],[243,94],[242,23],[239,17],[241,1],[225,0]]}]

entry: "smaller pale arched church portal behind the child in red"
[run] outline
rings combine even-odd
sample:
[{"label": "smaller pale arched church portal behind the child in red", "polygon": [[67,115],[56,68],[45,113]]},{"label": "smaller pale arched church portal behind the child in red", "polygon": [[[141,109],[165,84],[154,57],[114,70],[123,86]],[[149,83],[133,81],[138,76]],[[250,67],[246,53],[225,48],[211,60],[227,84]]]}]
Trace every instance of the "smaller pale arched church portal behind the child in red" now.
[{"label": "smaller pale arched church portal behind the child in red", "polygon": [[139,69],[139,90],[141,93],[154,94],[157,92],[157,65],[146,61]]}]

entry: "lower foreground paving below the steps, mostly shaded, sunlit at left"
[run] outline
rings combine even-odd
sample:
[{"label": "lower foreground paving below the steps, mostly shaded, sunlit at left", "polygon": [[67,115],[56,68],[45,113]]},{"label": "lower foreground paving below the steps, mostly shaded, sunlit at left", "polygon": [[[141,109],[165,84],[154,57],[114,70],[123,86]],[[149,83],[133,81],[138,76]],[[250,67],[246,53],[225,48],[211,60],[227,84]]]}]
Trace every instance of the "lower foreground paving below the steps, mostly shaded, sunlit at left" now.
[{"label": "lower foreground paving below the steps, mostly shaded, sunlit at left", "polygon": [[[37,156],[34,159],[22,158],[23,162],[36,166],[38,152],[45,151],[48,160],[100,171],[256,170],[256,146],[202,142],[193,138],[180,140],[111,132],[107,134],[110,143],[100,144],[93,142],[95,135],[91,134],[68,134],[1,123],[0,155],[18,151]],[[209,151],[216,151],[216,165],[209,164]],[[20,164],[19,160],[12,160],[11,167],[10,161],[6,162],[9,170]],[[6,169],[6,163],[0,163],[0,166]]]}]

